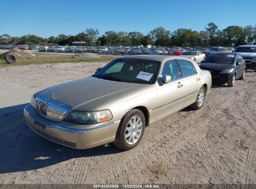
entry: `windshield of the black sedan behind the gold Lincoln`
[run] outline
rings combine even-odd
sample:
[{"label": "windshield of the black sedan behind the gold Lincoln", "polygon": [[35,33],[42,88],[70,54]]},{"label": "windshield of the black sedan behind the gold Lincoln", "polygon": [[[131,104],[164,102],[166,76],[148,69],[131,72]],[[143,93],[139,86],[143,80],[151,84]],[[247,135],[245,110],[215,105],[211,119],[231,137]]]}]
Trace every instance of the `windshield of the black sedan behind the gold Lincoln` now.
[{"label": "windshield of the black sedan behind the gold Lincoln", "polygon": [[209,55],[209,57],[204,60],[203,63],[233,63],[235,55],[234,54],[227,54],[227,53],[214,53]]}]

